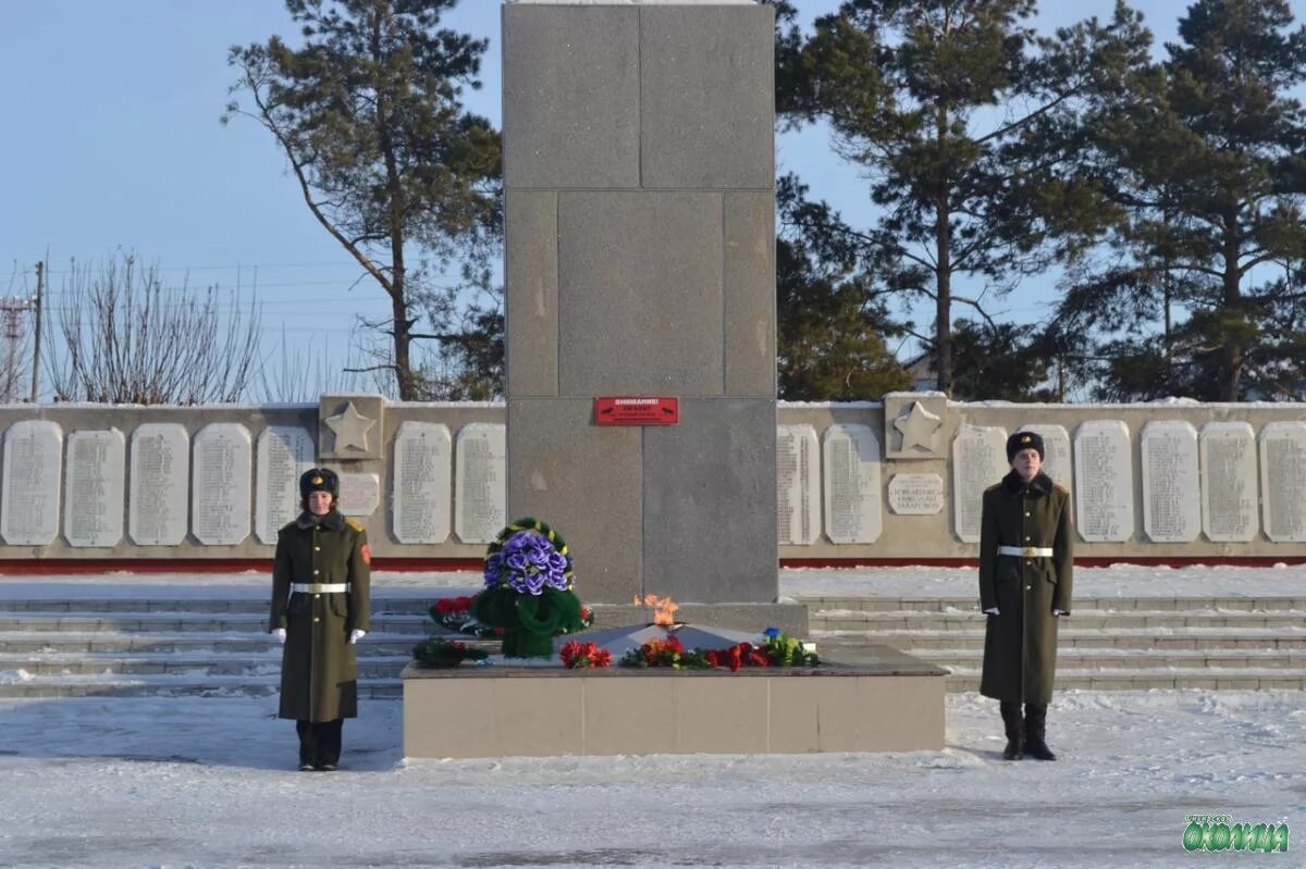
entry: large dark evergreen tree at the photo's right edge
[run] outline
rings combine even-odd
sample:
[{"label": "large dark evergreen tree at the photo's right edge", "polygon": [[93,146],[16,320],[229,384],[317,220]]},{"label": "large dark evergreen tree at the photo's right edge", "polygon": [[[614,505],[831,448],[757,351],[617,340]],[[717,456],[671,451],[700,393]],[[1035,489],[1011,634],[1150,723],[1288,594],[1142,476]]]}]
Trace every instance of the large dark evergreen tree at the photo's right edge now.
[{"label": "large dark evergreen tree at the photo's right edge", "polygon": [[1285,0],[1199,0],[1179,39],[1084,117],[1126,219],[1062,321],[1106,333],[1105,398],[1301,398],[1306,29]]}]

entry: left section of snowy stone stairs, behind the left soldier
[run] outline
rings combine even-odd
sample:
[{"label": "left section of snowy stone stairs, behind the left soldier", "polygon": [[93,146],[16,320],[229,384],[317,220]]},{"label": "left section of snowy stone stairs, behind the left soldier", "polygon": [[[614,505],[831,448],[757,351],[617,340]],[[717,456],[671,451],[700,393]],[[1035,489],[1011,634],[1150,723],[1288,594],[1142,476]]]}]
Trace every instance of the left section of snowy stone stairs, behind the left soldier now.
[{"label": "left section of snowy stone stairs, behind the left soldier", "polygon": [[[359,695],[397,698],[430,600],[372,600]],[[0,600],[0,697],[270,695],[281,646],[268,604],[209,600]]]}]

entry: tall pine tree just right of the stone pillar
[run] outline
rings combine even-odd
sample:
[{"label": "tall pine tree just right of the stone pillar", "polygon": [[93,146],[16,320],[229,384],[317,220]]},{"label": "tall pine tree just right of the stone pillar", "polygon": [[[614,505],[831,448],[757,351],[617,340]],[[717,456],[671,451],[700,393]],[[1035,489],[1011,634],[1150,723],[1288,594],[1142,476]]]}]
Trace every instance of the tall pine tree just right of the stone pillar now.
[{"label": "tall pine tree just right of the stone pillar", "polygon": [[[953,390],[952,311],[1045,270],[1100,230],[1096,183],[1058,172],[1074,106],[1130,46],[1096,21],[1041,39],[1034,0],[848,0],[801,42],[777,37],[777,99],[825,117],[866,167],[879,223],[858,236],[882,291],[934,303],[939,388]],[[970,290],[961,295],[959,287]]]}]

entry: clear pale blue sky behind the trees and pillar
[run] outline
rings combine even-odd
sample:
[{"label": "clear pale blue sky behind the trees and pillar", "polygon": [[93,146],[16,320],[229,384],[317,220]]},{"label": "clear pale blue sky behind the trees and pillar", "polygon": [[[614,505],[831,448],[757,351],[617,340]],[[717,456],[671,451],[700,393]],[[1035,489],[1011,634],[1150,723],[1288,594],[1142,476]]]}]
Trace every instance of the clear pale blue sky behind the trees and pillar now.
[{"label": "clear pale blue sky behind the trees and pillar", "polygon": [[[464,0],[448,22],[488,37],[485,87],[471,110],[496,125],[499,3]],[[798,0],[804,23],[837,0]],[[1109,18],[1113,0],[1043,0],[1050,29]],[[1173,39],[1182,0],[1136,0],[1158,42]],[[47,256],[57,309],[69,260],[137,252],[171,284],[257,288],[266,350],[341,358],[355,313],[384,295],[304,207],[272,137],[251,120],[218,123],[234,81],[232,44],[293,37],[278,0],[40,0],[0,3],[0,295],[30,295]],[[780,140],[782,171],[852,222],[871,222],[865,185],[823,130]],[[1023,286],[1003,318],[1029,321],[1050,282]],[[48,333],[47,333],[48,334]],[[909,350],[909,348],[904,348]],[[277,364],[272,359],[269,364]],[[44,376],[43,376],[43,380]],[[334,384],[333,384],[334,385]]]}]

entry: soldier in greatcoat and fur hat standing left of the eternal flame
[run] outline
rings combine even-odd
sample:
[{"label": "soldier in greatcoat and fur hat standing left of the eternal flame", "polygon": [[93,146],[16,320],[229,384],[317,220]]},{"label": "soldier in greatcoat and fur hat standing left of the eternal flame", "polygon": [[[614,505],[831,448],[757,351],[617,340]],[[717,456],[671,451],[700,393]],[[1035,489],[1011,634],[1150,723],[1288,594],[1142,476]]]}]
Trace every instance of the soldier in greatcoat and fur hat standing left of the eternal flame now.
[{"label": "soldier in greatcoat and fur hat standing left of the eternal flame", "polygon": [[340,478],[299,478],[303,513],[277,535],[269,630],[285,645],[281,718],[295,720],[299,769],[334,770],[341,729],[358,716],[355,643],[368,629],[367,531],[337,510]]}]

